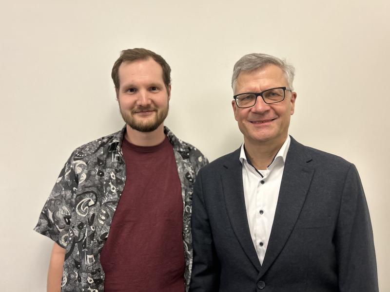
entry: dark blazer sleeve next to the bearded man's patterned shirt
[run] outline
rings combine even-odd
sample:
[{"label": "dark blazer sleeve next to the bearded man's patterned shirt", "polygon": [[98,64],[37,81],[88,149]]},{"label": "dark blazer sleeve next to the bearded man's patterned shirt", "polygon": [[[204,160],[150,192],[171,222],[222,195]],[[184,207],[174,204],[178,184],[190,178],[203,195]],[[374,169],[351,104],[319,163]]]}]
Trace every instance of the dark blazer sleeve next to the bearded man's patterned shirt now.
[{"label": "dark blazer sleeve next to the bearded man's patterned shirt", "polygon": [[194,257],[189,291],[216,292],[219,291],[220,264],[215,251],[202,184],[201,169],[195,181],[192,203],[191,228]]}]

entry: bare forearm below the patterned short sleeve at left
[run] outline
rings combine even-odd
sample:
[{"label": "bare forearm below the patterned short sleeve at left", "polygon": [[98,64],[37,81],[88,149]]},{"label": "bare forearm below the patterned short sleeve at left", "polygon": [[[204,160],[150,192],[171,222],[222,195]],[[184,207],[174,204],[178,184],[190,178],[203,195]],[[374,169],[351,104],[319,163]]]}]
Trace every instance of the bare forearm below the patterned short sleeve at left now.
[{"label": "bare forearm below the patterned short sleeve at left", "polygon": [[62,266],[64,264],[65,249],[54,243],[50,256],[49,272],[47,274],[47,292],[61,291]]}]

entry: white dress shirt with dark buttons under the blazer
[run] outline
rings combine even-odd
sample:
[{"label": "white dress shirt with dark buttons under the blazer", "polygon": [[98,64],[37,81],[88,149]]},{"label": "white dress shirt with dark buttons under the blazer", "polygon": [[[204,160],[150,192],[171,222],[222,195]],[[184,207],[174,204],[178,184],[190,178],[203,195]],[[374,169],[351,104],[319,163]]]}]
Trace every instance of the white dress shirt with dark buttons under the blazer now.
[{"label": "white dress shirt with dark buttons under the blazer", "polygon": [[241,146],[242,181],[244,185],[245,207],[251,237],[260,264],[270,240],[273,217],[275,216],[284,163],[290,147],[290,136],[277,152],[273,162],[265,170],[255,169]]}]

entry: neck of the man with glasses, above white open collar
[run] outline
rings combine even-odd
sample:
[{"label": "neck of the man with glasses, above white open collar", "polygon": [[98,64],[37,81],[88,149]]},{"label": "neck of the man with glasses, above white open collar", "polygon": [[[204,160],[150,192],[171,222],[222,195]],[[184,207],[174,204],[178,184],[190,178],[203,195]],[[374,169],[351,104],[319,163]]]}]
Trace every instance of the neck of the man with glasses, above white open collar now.
[{"label": "neck of the man with glasses, above white open collar", "polygon": [[272,163],[273,158],[283,146],[287,136],[278,141],[253,142],[244,137],[246,155],[257,169],[265,170]]}]

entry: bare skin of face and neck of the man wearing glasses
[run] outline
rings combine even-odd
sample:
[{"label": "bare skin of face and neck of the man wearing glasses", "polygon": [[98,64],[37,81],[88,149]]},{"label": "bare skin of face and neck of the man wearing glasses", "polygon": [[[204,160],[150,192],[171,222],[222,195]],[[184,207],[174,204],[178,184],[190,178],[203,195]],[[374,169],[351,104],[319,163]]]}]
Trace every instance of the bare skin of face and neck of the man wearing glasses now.
[{"label": "bare skin of face and neck of the man wearing glasses", "polygon": [[[234,94],[261,92],[285,86],[289,88],[283,71],[275,65],[267,65],[238,75]],[[232,101],[234,118],[244,135],[245,149],[258,169],[266,169],[283,145],[288,135],[290,117],[294,113],[296,92],[285,91],[285,99],[266,104],[261,97],[251,108],[240,109]]]}]

